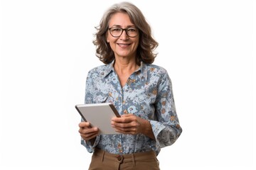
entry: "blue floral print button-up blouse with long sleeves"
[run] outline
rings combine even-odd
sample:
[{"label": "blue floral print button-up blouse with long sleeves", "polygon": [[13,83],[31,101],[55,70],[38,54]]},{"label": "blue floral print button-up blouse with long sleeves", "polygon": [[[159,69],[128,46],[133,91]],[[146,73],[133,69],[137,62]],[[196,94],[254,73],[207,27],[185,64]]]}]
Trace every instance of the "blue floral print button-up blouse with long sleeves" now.
[{"label": "blue floral print button-up blouse with long sleeves", "polygon": [[[149,120],[154,137],[137,135],[98,135],[93,144],[81,139],[88,152],[100,148],[112,154],[131,154],[154,150],[174,144],[181,135],[171,79],[166,69],[144,64],[122,87],[113,63],[91,69],[87,74],[85,103],[113,103],[120,115],[132,113]],[[95,113],[97,114],[97,113]]]}]

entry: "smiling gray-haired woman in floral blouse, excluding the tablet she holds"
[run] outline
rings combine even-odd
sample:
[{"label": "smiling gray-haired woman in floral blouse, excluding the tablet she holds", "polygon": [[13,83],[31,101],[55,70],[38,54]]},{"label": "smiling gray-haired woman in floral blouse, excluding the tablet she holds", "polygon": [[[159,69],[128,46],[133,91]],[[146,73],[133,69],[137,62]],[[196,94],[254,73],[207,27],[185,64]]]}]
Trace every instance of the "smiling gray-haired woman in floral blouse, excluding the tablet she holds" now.
[{"label": "smiling gray-haired woman in floral blouse, excluding the tablet she holds", "polygon": [[99,135],[81,122],[82,145],[93,152],[89,169],[159,169],[156,156],[181,135],[171,80],[152,64],[158,43],[133,4],[111,6],[97,28],[94,44],[104,63],[87,74],[85,103],[113,103],[118,135]]}]

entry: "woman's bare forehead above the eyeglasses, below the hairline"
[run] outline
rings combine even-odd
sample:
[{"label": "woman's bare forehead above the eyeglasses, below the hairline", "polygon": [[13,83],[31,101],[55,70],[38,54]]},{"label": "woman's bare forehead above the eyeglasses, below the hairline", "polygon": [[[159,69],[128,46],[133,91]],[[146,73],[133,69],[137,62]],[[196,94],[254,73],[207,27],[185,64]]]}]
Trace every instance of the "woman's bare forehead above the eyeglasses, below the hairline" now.
[{"label": "woman's bare forehead above the eyeglasses, below the hairline", "polygon": [[112,26],[134,26],[127,13],[114,13],[110,18],[110,27]]}]

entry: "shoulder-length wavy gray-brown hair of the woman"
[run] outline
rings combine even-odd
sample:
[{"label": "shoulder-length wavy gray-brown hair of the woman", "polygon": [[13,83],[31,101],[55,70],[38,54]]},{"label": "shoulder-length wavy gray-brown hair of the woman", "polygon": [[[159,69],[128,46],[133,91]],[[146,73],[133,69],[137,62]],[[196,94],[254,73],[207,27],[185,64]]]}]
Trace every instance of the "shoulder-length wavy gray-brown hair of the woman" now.
[{"label": "shoulder-length wavy gray-brown hair of the woman", "polygon": [[109,64],[114,60],[114,52],[112,51],[110,44],[107,43],[107,31],[109,28],[110,18],[114,13],[127,13],[132,23],[139,29],[139,45],[137,47],[137,64],[140,62],[151,64],[154,62],[154,58],[157,53],[154,50],[159,45],[151,35],[151,27],[147,23],[142,11],[137,6],[129,2],[121,2],[114,4],[107,11],[105,11],[100,25],[95,27],[97,33],[95,33],[95,40],[93,44],[96,45],[96,56],[100,61],[105,64]]}]

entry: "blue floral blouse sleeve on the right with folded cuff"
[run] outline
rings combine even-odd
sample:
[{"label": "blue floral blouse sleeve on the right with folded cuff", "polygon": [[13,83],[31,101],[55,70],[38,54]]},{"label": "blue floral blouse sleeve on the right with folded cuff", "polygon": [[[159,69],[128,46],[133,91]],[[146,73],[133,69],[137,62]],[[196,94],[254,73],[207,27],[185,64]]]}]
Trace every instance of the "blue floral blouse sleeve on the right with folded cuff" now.
[{"label": "blue floral blouse sleeve on the right with folded cuff", "polygon": [[161,148],[174,144],[181,135],[182,128],[176,114],[171,79],[167,72],[160,80],[155,106],[157,120],[150,120],[150,123],[156,138],[156,147]]}]

